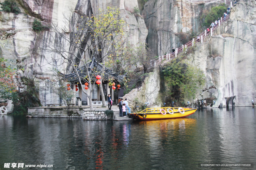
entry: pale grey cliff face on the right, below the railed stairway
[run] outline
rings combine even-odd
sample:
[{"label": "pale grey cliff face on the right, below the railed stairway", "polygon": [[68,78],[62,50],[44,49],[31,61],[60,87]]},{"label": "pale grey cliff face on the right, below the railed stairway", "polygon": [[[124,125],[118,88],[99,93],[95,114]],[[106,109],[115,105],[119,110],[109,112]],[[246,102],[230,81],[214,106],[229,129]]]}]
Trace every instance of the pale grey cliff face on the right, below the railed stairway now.
[{"label": "pale grey cliff face on the right, below the railed stairway", "polygon": [[[230,20],[198,47],[192,63],[206,74],[200,98],[216,98],[215,107],[251,106],[256,98],[256,2],[240,1]],[[210,106],[208,106],[210,107]]]}]

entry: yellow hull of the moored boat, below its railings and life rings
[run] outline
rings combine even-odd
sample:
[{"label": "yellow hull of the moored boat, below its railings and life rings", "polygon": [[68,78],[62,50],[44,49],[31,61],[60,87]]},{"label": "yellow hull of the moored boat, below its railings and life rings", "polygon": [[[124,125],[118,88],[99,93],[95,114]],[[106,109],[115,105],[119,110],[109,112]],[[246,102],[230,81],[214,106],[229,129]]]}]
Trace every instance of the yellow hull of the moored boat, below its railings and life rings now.
[{"label": "yellow hull of the moored boat, below its railings and life rings", "polygon": [[[180,113],[178,110],[174,110],[173,114],[169,114],[167,112],[165,115],[161,114],[160,112],[159,113],[131,113],[131,115],[133,114],[132,118],[135,120],[175,119],[175,118],[187,117],[195,113],[197,109],[198,108],[184,108],[184,111],[185,111],[184,114]],[[146,116],[144,115],[145,118],[143,118],[143,114],[146,114]]]}]

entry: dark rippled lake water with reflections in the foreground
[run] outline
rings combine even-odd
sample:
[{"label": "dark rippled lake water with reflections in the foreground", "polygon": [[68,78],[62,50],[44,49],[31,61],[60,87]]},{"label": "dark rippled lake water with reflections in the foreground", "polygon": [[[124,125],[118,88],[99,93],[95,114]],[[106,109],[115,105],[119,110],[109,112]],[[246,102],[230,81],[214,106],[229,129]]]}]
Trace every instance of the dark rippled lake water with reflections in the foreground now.
[{"label": "dark rippled lake water with reflections in the foreground", "polygon": [[[155,121],[1,115],[0,169],[256,169],[255,131],[251,107],[203,109],[188,118]],[[201,162],[254,167],[198,167]]]}]

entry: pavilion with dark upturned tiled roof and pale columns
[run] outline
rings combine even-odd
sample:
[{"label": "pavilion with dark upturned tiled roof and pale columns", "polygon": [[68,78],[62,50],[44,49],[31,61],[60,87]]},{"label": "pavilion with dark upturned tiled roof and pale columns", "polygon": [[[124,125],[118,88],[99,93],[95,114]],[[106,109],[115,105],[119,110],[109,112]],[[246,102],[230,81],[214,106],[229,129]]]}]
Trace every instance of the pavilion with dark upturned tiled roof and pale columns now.
[{"label": "pavilion with dark upturned tiled roof and pale columns", "polygon": [[[88,71],[89,71],[90,77],[93,77],[92,81],[94,82],[95,78],[94,78],[94,74],[93,74],[94,72],[92,69],[94,69],[94,70],[96,69],[97,72],[100,72],[102,70],[103,65],[101,63],[99,63],[95,59],[95,57],[93,57],[92,61],[88,62],[88,66],[89,66]],[[87,70],[86,65],[78,68],[77,71],[78,71],[79,76],[86,77],[87,76],[86,70]],[[126,76],[126,74],[119,75],[118,73],[113,72],[113,69],[105,68],[104,74],[101,75],[101,80],[102,80],[101,83],[103,86],[103,92],[104,92],[105,98],[108,94],[110,94],[110,88],[112,89],[112,86],[111,87],[109,86],[109,80],[118,84],[124,80],[125,76]],[[81,79],[82,84],[80,84],[79,78],[75,72],[72,72],[71,74],[65,74],[64,77],[71,83],[71,88],[73,87],[73,93],[76,94],[76,85],[78,86],[78,89],[79,89],[78,93],[79,93],[79,97],[81,99],[81,101],[78,100],[79,101],[78,107],[81,107],[82,104],[87,104],[89,106],[89,98],[82,91],[82,88],[85,87],[84,83],[86,83],[86,81]],[[114,101],[114,89],[112,89],[111,99]],[[106,99],[105,99],[105,101],[106,101]],[[76,104],[76,97],[73,98],[72,103]],[[92,91],[92,104],[93,105],[102,105],[100,87],[97,84],[94,85],[94,89]],[[106,104],[107,104],[107,101],[106,101]]]}]

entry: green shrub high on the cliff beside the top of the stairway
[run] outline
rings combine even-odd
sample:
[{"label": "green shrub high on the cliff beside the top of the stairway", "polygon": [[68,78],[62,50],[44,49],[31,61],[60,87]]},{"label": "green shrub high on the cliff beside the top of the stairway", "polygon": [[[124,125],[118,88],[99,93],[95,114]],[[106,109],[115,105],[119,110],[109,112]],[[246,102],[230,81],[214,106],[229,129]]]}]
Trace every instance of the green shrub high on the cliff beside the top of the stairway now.
[{"label": "green shrub high on the cliff beside the top of the stairway", "polygon": [[[224,4],[225,5],[225,4]],[[211,8],[210,11],[207,12],[205,17],[205,21],[203,23],[204,26],[210,27],[211,23],[218,19],[218,17],[222,17],[224,12],[227,11],[227,8],[223,4],[220,4],[217,7]]]}]

